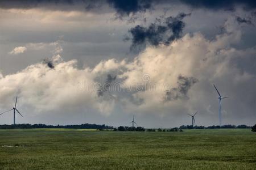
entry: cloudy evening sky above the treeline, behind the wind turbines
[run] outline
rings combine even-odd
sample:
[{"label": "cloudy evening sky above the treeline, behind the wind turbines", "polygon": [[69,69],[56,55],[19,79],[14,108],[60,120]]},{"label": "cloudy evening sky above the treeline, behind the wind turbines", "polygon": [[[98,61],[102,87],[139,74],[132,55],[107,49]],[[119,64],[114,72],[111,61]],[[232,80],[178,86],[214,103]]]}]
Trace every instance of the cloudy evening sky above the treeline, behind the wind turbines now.
[{"label": "cloudy evening sky above the treeline, behind the wind turbines", "polygon": [[[0,112],[16,123],[256,122],[255,1],[0,1]],[[13,124],[13,113],[0,116]]]}]

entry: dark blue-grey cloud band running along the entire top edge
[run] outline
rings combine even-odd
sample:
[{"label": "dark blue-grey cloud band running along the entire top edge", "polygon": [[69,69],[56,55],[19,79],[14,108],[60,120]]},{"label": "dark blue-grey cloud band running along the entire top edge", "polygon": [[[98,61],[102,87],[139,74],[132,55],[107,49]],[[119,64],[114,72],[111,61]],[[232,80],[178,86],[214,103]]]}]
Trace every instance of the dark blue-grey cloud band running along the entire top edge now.
[{"label": "dark blue-grey cloud band running along the entire top edge", "polygon": [[[47,7],[51,10],[90,10],[96,9],[102,5],[109,5],[113,7],[117,12],[117,15],[129,16],[130,14],[136,14],[137,12],[144,12],[153,8],[155,5],[175,5],[177,3],[183,3],[193,8],[209,8],[213,10],[231,10],[236,5],[243,5],[248,8],[256,8],[255,0],[180,0],[180,1],[166,1],[166,0],[1,0],[0,8],[34,8],[34,7]],[[51,7],[53,6],[54,7]],[[77,5],[79,7],[77,8]],[[67,7],[63,7],[67,6]],[[75,7],[76,6],[76,7]],[[99,11],[99,10],[98,10]]]}]

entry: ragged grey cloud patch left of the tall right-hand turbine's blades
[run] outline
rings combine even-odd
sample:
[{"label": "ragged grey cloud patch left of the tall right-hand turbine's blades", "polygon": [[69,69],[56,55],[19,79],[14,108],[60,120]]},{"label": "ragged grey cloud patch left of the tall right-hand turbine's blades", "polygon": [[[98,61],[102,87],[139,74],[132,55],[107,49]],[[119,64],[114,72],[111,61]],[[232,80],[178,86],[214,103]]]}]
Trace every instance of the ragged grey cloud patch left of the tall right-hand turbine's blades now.
[{"label": "ragged grey cloud patch left of the tall right-hand turbine's blades", "polygon": [[194,77],[185,77],[179,75],[177,78],[177,87],[171,88],[166,92],[165,101],[188,99],[188,90],[199,80]]}]

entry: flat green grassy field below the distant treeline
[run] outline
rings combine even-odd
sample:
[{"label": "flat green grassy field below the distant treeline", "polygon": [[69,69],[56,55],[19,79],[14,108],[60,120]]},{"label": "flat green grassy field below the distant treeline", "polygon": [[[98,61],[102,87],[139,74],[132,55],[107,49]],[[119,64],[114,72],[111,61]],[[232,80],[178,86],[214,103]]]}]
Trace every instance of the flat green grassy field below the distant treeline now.
[{"label": "flat green grassy field below the distant treeline", "polygon": [[256,169],[256,133],[0,130],[0,169]]}]

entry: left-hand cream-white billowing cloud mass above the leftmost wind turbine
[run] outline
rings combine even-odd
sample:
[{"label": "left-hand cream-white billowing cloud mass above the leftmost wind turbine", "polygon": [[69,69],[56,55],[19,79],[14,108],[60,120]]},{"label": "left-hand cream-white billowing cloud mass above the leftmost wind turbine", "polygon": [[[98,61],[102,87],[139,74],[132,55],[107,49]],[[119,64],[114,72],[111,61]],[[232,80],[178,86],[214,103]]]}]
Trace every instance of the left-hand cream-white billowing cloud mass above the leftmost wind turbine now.
[{"label": "left-hand cream-white billowing cloud mass above the leftmost wind turbine", "polygon": [[75,60],[59,62],[54,69],[37,63],[0,79],[1,108],[13,103],[13,95],[18,94],[21,104],[39,112],[82,105],[103,110],[106,104],[97,103],[96,91],[91,86],[93,79],[91,70],[77,69]]}]

